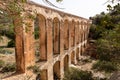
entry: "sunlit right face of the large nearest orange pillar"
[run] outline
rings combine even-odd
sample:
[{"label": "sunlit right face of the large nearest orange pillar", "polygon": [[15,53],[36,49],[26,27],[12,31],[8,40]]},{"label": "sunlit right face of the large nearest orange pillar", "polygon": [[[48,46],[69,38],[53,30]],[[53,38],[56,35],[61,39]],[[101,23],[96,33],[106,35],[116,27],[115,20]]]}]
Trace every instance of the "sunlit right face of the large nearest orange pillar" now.
[{"label": "sunlit right face of the large nearest orange pillar", "polygon": [[29,18],[31,14],[25,15],[24,25],[24,54],[25,54],[25,67],[34,65],[35,50],[34,50],[34,19]]}]

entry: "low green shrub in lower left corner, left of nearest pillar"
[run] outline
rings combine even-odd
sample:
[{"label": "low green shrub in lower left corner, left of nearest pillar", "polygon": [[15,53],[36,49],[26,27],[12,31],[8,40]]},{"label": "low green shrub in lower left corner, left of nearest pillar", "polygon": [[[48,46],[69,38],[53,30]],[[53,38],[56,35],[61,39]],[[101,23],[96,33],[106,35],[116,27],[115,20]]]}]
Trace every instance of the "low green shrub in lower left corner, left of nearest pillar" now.
[{"label": "low green shrub in lower left corner, left of nearest pillar", "polygon": [[16,70],[16,65],[14,64],[6,64],[3,68],[2,68],[2,72],[14,72]]}]

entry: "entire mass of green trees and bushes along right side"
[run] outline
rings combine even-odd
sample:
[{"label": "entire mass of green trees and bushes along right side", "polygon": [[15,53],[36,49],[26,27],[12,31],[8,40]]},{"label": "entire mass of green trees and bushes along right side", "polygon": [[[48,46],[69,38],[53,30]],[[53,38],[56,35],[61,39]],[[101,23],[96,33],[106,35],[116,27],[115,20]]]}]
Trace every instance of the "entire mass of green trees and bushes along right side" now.
[{"label": "entire mass of green trees and bushes along right side", "polygon": [[[120,65],[120,4],[108,5],[109,13],[91,17],[90,37],[96,39],[97,58],[93,65],[98,71],[113,72]],[[91,36],[92,35],[92,36]]]}]

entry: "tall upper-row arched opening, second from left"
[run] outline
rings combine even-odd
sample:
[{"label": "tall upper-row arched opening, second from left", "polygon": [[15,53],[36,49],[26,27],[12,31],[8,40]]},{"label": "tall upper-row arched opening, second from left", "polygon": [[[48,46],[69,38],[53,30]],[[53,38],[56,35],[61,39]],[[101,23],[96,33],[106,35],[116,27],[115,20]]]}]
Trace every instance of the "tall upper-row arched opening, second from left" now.
[{"label": "tall upper-row arched opening, second from left", "polygon": [[60,53],[60,22],[58,18],[53,19],[53,53]]}]

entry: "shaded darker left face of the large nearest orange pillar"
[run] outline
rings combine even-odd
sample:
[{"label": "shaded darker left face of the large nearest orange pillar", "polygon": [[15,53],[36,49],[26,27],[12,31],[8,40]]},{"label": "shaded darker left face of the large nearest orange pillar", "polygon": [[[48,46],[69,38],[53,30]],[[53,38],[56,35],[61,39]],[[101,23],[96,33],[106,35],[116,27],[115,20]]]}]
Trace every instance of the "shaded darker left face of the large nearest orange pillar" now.
[{"label": "shaded darker left face of the large nearest orange pillar", "polygon": [[15,26],[15,58],[16,58],[16,72],[25,72],[25,56],[24,56],[24,38],[23,26],[21,25],[20,16],[14,21]]}]

